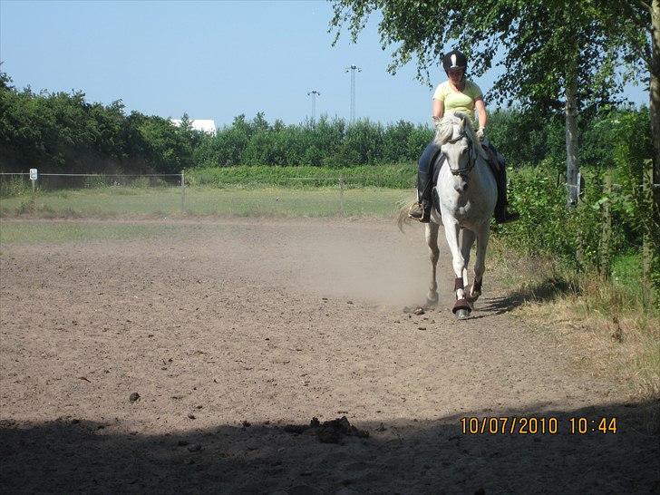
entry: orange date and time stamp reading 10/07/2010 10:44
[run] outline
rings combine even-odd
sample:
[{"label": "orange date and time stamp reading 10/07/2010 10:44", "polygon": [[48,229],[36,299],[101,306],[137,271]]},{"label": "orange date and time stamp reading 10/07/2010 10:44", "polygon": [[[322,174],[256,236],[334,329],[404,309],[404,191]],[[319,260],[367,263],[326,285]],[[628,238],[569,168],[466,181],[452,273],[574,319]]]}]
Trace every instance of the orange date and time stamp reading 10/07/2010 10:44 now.
[{"label": "orange date and time stamp reading 10/07/2010 10:44", "polygon": [[594,419],[577,416],[569,417],[568,422],[554,416],[468,416],[460,422],[464,435],[556,435],[559,432],[586,435],[618,431],[616,416]]}]

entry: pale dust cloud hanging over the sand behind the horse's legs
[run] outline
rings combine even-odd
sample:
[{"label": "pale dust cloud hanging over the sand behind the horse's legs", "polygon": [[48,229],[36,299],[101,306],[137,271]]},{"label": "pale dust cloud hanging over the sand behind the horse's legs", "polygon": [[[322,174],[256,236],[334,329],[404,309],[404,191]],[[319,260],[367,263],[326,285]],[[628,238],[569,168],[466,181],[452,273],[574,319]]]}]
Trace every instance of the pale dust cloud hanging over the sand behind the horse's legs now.
[{"label": "pale dust cloud hanging over the sand behind the horse's legs", "polygon": [[[265,242],[251,242],[257,230],[263,236],[265,229],[271,234]],[[408,226],[402,233],[394,220],[365,224],[309,219],[304,228],[299,220],[247,223],[232,237],[249,250],[246,277],[268,277],[271,283],[322,297],[375,306],[414,306],[426,298],[431,265],[421,225]],[[441,244],[441,257],[445,251]],[[451,296],[451,274],[439,269],[438,283],[441,300]]]}]

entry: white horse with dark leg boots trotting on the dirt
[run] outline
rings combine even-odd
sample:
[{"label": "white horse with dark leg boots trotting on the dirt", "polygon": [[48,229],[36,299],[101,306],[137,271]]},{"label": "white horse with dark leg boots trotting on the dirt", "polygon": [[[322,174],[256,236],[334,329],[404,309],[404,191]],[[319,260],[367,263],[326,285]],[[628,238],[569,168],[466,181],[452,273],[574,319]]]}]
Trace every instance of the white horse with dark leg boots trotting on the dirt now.
[{"label": "white horse with dark leg boots trotting on the dirt", "polygon": [[[433,184],[438,193],[440,215],[434,205],[431,222],[425,224],[424,235],[431,249],[432,267],[427,299],[430,304],[438,301],[436,267],[440,257],[438,228],[442,223],[455,274],[456,303],[452,311],[462,319],[470,315],[472,304],[481,295],[497,183],[490,171],[488,157],[466,115],[459,112],[448,114],[435,121],[435,130],[435,142],[441,145],[444,164]],[[468,286],[468,262],[475,238],[474,282]]]}]

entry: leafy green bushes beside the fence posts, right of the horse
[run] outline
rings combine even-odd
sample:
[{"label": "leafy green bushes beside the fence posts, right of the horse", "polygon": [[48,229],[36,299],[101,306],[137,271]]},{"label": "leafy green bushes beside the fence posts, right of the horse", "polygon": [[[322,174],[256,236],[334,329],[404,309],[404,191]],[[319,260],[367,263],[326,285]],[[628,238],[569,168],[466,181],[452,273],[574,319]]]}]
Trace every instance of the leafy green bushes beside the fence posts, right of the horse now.
[{"label": "leafy green bushes beside the fence posts, right of the horse", "polygon": [[[550,257],[564,267],[595,269],[606,277],[615,275],[616,264],[622,258],[639,259],[646,228],[640,218],[647,213],[634,198],[637,180],[627,177],[626,170],[620,168],[583,168],[585,184],[580,201],[577,208],[569,209],[566,185],[558,180],[557,165],[547,160],[539,167],[510,170],[510,209],[518,211],[520,219],[496,226],[495,233],[504,238],[512,256]],[[608,192],[606,174],[614,184]],[[607,247],[603,244],[606,206],[611,218]],[[652,232],[657,228],[652,227]],[[656,251],[651,282],[660,294],[657,261]]]}]

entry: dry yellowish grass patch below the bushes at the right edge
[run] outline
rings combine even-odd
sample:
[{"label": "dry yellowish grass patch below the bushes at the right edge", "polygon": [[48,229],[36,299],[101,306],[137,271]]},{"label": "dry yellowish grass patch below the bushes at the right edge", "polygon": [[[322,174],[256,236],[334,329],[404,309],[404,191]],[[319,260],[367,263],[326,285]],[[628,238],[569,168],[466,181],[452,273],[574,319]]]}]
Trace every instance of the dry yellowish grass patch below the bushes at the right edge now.
[{"label": "dry yellowish grass patch below the bushes at the right edge", "polygon": [[487,267],[522,321],[557,332],[583,363],[626,381],[631,392],[660,397],[660,309],[643,295],[639,254],[615,257],[605,279],[550,257],[519,256],[508,238],[493,236]]}]

